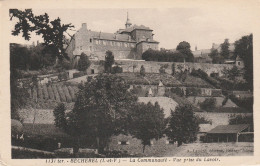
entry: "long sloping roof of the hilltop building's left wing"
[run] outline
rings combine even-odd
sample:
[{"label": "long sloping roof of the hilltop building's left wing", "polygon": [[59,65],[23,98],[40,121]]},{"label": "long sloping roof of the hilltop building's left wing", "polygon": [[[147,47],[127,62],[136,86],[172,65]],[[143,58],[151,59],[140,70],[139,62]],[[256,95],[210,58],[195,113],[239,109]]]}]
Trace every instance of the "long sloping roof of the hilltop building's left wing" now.
[{"label": "long sloping roof of the hilltop building's left wing", "polygon": [[93,38],[104,39],[104,40],[119,40],[119,41],[127,41],[127,42],[135,42],[131,39],[131,36],[127,34],[117,34],[117,33],[106,33],[106,32],[97,32],[97,31],[89,31],[90,35]]}]

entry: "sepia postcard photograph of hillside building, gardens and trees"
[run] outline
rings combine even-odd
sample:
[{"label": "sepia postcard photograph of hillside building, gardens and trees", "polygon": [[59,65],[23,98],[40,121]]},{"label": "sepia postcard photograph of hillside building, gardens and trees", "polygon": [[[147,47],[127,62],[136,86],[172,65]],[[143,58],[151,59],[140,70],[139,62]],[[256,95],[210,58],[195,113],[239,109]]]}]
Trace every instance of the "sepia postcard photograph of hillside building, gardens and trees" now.
[{"label": "sepia postcard photograph of hillside building, gardens and trees", "polygon": [[254,20],[228,9],[9,8],[11,159],[254,156]]}]

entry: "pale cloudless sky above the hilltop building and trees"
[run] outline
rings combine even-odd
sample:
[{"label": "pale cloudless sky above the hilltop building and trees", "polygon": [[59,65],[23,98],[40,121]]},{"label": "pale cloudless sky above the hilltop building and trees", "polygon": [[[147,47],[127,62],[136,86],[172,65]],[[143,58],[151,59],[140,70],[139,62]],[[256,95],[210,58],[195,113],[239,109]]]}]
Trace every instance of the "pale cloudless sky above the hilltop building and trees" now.
[{"label": "pale cloudless sky above the hilltop building and trees", "polygon": [[[134,25],[148,26],[153,30],[154,39],[159,41],[159,48],[175,49],[187,41],[194,50],[209,49],[212,43],[223,43],[228,38],[232,43],[244,35],[253,32],[254,20],[247,8],[121,8],[121,9],[32,9],[36,15],[48,13],[50,19],[61,18],[62,23],[72,23],[73,35],[82,25],[92,31],[115,33],[125,27],[127,12]],[[21,35],[12,36],[11,29],[16,23],[10,21],[10,42],[30,44],[40,36],[32,35],[25,41]]]}]

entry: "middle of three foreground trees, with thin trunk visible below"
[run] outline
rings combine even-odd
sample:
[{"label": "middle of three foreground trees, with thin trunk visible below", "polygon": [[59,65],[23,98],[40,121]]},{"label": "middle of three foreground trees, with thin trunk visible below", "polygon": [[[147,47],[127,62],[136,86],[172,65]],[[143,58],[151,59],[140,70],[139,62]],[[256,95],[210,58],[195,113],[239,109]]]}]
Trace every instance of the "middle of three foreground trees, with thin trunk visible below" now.
[{"label": "middle of three foreground trees, with thin trunk visible below", "polygon": [[151,139],[158,140],[163,135],[165,130],[163,109],[158,102],[154,105],[150,102],[141,103],[132,110],[131,117],[130,133],[142,141],[144,153],[145,146],[150,145]]}]

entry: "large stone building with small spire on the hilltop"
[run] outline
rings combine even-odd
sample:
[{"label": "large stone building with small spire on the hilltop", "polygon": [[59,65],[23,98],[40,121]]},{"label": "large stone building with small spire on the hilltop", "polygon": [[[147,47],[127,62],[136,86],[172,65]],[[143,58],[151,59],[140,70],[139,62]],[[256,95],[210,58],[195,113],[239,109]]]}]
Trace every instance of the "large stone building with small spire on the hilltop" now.
[{"label": "large stone building with small spire on the hilltop", "polygon": [[128,15],[125,29],[116,33],[92,31],[83,23],[71,38],[66,52],[71,59],[84,52],[90,59],[104,60],[108,50],[113,52],[115,59],[141,59],[147,49],[158,49],[159,42],[153,39],[152,32],[149,27],[132,25]]}]

